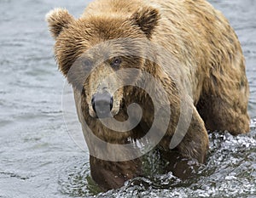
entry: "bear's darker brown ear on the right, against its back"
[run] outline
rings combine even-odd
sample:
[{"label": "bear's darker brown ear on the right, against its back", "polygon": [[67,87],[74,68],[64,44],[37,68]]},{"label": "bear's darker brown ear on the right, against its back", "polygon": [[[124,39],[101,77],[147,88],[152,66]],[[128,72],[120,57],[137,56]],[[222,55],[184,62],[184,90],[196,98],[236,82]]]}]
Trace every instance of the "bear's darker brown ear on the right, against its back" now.
[{"label": "bear's darker brown ear on the right, against its back", "polygon": [[160,13],[156,8],[140,8],[131,15],[133,24],[138,25],[148,38],[151,37],[154,27],[160,20]]}]

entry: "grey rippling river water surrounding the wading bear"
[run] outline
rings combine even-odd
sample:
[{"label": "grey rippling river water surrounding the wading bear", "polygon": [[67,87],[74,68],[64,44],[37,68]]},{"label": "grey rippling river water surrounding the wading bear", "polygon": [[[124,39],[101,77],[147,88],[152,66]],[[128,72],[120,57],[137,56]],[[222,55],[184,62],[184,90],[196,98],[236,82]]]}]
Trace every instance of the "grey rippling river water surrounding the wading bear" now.
[{"label": "grey rippling river water surrounding the wading bear", "polygon": [[[0,2],[0,197],[255,197],[256,2],[211,1],[235,28],[247,60],[251,133],[213,133],[207,164],[193,179],[181,182],[154,167],[147,178],[100,194],[90,178],[88,152],[73,142],[63,122],[65,79],[44,22],[51,8],[66,7],[79,16],[88,2]],[[146,170],[155,164],[151,159],[145,157]]]}]

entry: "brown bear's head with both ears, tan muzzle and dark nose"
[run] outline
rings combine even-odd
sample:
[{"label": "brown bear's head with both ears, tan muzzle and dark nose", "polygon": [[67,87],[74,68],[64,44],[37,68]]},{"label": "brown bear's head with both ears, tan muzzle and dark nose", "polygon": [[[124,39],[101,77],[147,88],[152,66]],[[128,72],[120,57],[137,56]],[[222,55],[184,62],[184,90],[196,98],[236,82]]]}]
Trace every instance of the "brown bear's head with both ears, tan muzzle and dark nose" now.
[{"label": "brown bear's head with both ears, tan muzzle and dark nose", "polygon": [[[84,108],[93,118],[117,115],[129,95],[120,85],[137,82],[140,71],[154,73],[153,67],[145,66],[145,50],[160,20],[155,8],[126,15],[88,14],[78,20],[66,9],[55,8],[46,20],[55,38],[59,69],[82,93]],[[133,75],[125,73],[129,68],[135,69]]]}]

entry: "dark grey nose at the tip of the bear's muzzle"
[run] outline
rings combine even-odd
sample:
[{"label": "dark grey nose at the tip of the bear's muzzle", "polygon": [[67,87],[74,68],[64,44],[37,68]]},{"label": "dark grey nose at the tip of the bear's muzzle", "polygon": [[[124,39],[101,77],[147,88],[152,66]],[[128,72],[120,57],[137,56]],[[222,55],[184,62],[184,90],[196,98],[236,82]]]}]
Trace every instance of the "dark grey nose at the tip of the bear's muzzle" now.
[{"label": "dark grey nose at the tip of the bear's muzzle", "polygon": [[111,116],[113,97],[108,92],[96,93],[91,99],[91,105],[98,118]]}]

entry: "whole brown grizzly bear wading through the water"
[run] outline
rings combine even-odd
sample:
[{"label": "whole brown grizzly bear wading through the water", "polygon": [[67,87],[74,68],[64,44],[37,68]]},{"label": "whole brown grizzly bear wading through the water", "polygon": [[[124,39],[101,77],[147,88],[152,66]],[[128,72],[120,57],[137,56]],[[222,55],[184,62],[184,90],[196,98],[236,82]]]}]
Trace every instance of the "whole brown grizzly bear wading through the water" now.
[{"label": "whole brown grizzly bear wading through the water", "polygon": [[96,0],[79,19],[46,19],[102,190],[143,175],[152,149],[186,178],[206,161],[207,130],[249,131],[241,45],[206,0]]}]

